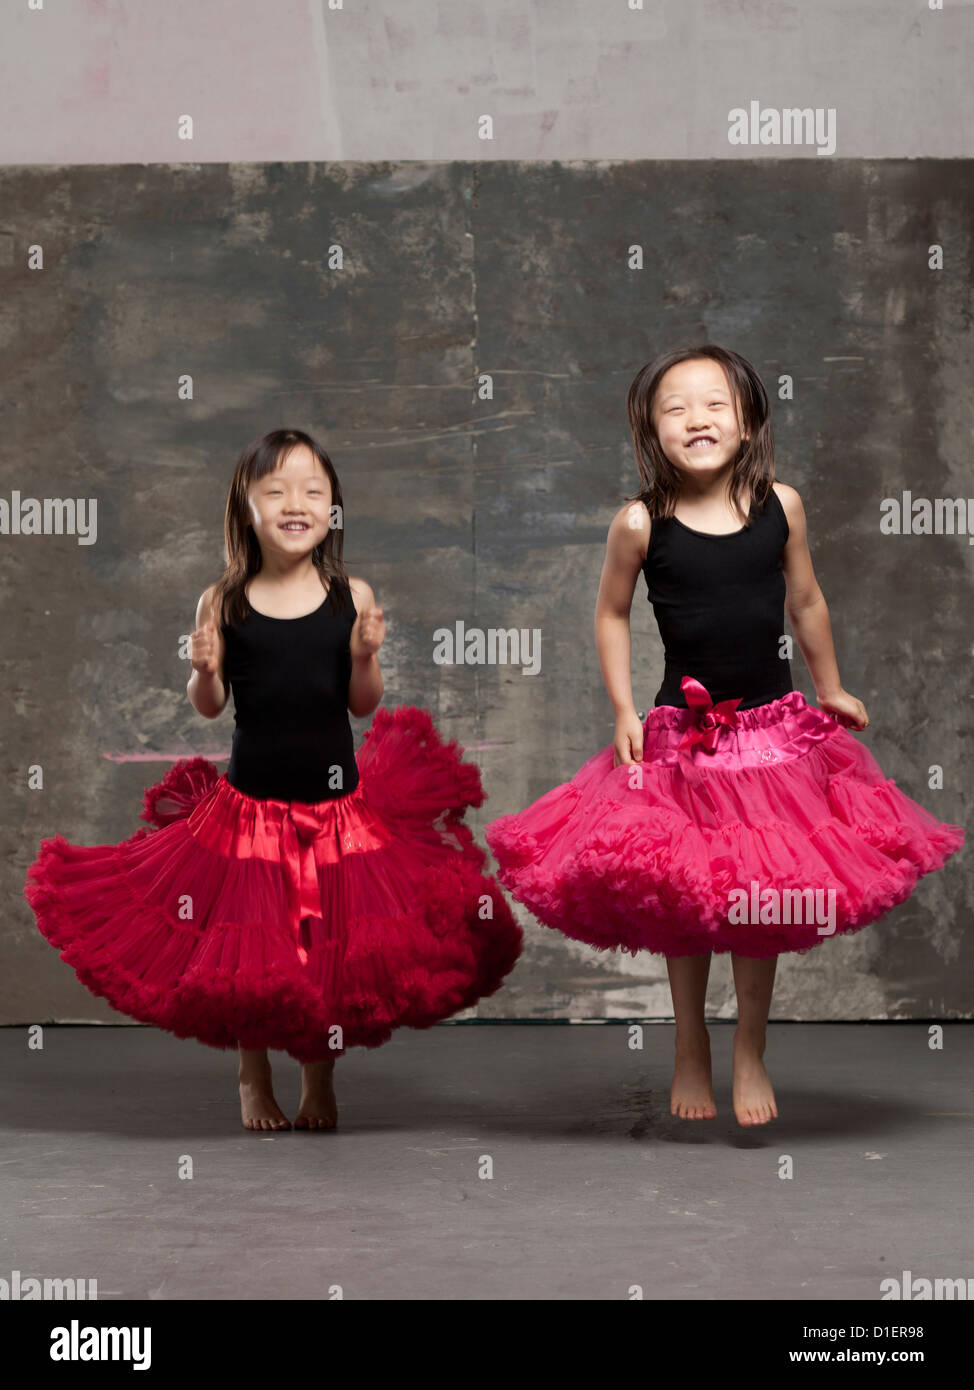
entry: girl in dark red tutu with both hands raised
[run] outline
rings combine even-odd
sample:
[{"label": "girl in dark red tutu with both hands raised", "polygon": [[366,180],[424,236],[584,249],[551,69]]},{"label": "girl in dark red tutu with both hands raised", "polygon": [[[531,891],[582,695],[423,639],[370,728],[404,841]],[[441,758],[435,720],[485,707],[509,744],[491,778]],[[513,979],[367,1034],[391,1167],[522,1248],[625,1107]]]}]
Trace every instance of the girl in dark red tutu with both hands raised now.
[{"label": "girl in dark red tutu with both hands raised", "polygon": [[245,449],[226,570],[192,634],[193,708],[233,695],[226,773],[176,762],[118,845],[42,841],[25,897],[94,994],[178,1037],[239,1047],[247,1129],[289,1129],[267,1048],[302,1062],[299,1129],[336,1122],[353,1045],[429,1027],[493,994],[521,949],[464,824],[478,769],[425,710],[378,710],[358,755],[349,710],[382,698],[385,620],[342,564],[342,491],[308,435]]}]

